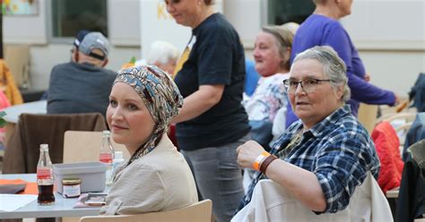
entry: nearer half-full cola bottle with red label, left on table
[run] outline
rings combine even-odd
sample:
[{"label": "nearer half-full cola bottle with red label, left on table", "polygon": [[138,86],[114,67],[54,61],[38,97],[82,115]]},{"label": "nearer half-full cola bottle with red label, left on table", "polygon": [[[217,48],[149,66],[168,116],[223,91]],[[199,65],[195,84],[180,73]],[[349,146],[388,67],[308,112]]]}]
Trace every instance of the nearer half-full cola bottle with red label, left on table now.
[{"label": "nearer half-full cola bottle with red label, left on table", "polygon": [[39,163],[37,164],[37,184],[39,185],[40,205],[51,205],[55,203],[53,194],[53,166],[48,156],[48,144],[39,145]]}]

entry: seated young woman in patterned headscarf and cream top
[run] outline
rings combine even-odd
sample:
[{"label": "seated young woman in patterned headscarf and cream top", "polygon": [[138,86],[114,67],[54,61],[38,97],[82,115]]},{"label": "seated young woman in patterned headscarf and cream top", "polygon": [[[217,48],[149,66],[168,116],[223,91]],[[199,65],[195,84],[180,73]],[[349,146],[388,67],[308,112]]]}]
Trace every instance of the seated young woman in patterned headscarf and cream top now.
[{"label": "seated young woman in patterned headscarf and cream top", "polygon": [[121,70],[109,96],[112,138],[131,158],[117,167],[100,214],[138,214],[186,207],[197,201],[185,158],[169,141],[171,117],[183,104],[177,86],[156,66]]}]

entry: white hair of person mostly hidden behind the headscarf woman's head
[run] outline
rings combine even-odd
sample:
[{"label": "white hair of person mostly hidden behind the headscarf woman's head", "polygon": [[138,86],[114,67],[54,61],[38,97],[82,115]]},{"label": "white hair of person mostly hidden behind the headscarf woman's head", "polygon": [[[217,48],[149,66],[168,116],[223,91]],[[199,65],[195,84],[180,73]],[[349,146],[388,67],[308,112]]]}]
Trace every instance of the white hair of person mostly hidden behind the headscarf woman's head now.
[{"label": "white hair of person mostly hidden behind the headscarf woman's head", "polygon": [[149,56],[147,58],[148,64],[168,64],[170,60],[178,59],[178,49],[172,44],[166,41],[154,41],[152,42]]}]

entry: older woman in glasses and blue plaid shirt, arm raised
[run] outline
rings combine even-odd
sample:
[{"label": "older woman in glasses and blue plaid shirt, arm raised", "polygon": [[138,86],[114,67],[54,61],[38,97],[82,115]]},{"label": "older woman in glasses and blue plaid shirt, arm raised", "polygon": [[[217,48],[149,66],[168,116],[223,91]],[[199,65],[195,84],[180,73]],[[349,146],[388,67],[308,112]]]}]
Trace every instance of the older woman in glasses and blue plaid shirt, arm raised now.
[{"label": "older woman in glasses and blue plaid shirt, arm raised", "polygon": [[271,153],[255,141],[238,148],[239,166],[259,171],[239,209],[251,201],[258,180],[269,178],[315,213],[334,213],[347,207],[368,172],[377,177],[373,142],[345,105],[350,98],[345,71],[331,47],[297,55],[283,84],[299,121],[274,143]]}]

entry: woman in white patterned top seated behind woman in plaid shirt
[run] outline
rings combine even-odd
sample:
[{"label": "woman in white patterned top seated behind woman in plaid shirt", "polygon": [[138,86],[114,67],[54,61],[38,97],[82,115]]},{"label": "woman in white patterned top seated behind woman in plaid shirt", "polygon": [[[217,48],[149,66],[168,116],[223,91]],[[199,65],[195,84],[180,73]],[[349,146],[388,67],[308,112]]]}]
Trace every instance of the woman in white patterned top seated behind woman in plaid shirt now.
[{"label": "woman in white patterned top seated behind woman in plaid shirt", "polygon": [[[290,22],[263,27],[256,36],[254,59],[256,71],[262,77],[252,97],[245,99],[244,107],[251,125],[251,139],[266,150],[270,150],[273,135],[278,136],[285,129],[288,97],[282,81],[289,77],[292,39],[298,26]],[[280,122],[274,124],[274,117],[278,114],[283,119],[278,117]]]}]

